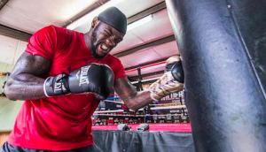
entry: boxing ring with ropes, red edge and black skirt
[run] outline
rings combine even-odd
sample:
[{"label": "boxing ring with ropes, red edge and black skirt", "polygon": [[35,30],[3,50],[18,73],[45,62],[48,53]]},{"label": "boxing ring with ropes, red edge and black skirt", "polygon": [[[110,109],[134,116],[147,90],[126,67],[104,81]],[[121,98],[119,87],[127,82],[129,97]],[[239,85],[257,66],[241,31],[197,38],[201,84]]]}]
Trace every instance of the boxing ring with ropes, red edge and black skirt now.
[{"label": "boxing ring with ropes, red edge and black skirt", "polygon": [[[175,100],[175,97],[168,97],[169,100]],[[184,100],[183,97],[177,100]],[[101,103],[108,104],[109,107],[104,107]],[[150,110],[168,110],[181,113],[173,114],[154,114],[153,112],[145,113],[145,109],[140,109],[138,112],[133,110],[127,110],[122,106],[123,102],[116,95],[109,97],[107,100],[102,101],[99,104],[98,111],[95,111],[93,116],[94,125],[92,126],[92,134],[95,145],[102,151],[113,152],[147,152],[147,151],[167,151],[167,152],[195,152],[195,148],[192,140],[192,128],[189,122],[187,123],[148,123],[148,131],[137,131],[137,126],[142,122],[130,122],[130,118],[160,118],[160,117],[182,117],[186,107],[184,102],[182,103],[151,103]],[[112,108],[110,105],[119,105]],[[107,109],[107,110],[106,110]],[[106,117],[107,125],[97,125],[98,117]],[[128,124],[131,127],[129,131],[121,131],[117,125],[114,125],[114,118],[125,118],[123,123]],[[113,119],[108,119],[113,118]],[[129,119],[126,119],[129,118]],[[127,121],[126,121],[127,120]],[[154,121],[154,120],[153,120]],[[131,124],[130,124],[131,123]],[[147,123],[147,122],[145,122]],[[113,124],[113,125],[112,125]]]}]

